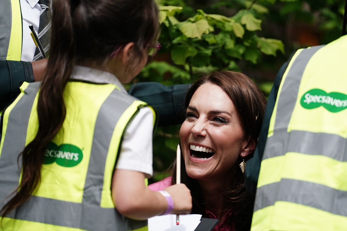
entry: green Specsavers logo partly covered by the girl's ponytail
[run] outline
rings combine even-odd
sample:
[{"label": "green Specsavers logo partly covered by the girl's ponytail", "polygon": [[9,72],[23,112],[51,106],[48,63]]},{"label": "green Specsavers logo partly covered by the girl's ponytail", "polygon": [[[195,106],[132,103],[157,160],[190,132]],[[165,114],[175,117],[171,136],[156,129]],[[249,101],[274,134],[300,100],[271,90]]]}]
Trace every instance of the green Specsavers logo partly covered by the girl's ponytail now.
[{"label": "green Specsavers logo partly covered by the girl's ponytail", "polygon": [[62,167],[74,167],[82,161],[83,153],[81,149],[72,144],[57,144],[50,142],[44,153],[43,164],[48,165],[56,162]]}]

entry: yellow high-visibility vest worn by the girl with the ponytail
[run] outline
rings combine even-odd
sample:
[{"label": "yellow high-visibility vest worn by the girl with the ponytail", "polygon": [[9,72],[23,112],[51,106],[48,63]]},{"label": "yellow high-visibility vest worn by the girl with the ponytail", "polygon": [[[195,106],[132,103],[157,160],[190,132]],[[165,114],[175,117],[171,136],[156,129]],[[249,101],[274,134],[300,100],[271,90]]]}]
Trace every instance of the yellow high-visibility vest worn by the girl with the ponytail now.
[{"label": "yellow high-visibility vest worn by the girl with the ponytail", "polygon": [[[37,133],[40,84],[24,82],[20,95],[3,112],[0,203],[18,187],[18,154]],[[40,185],[28,201],[3,218],[3,230],[147,230],[147,221],[120,215],[111,197],[124,133],[146,103],[116,85],[78,80],[68,82],[64,102],[66,118],[44,153]]]}]

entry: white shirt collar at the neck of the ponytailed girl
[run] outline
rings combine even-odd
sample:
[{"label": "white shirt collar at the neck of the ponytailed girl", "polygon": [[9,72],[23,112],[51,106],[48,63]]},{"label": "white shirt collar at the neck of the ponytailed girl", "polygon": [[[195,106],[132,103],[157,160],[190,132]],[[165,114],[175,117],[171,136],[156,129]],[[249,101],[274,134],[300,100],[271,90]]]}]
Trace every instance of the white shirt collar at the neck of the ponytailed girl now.
[{"label": "white shirt collar at the neck of the ponytailed girl", "polygon": [[123,85],[117,79],[116,75],[107,71],[76,65],[74,66],[70,79],[84,80],[94,83],[111,83],[116,85],[121,92],[128,94]]}]

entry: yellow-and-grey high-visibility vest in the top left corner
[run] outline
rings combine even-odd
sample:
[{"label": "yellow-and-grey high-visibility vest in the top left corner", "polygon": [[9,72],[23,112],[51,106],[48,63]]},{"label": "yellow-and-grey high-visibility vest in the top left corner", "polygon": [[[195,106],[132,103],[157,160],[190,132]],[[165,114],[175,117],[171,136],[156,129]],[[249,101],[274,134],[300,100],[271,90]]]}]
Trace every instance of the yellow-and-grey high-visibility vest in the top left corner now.
[{"label": "yellow-and-grey high-visibility vest in the top left corner", "polygon": [[19,0],[0,1],[0,60],[20,61],[22,56],[22,12]]}]

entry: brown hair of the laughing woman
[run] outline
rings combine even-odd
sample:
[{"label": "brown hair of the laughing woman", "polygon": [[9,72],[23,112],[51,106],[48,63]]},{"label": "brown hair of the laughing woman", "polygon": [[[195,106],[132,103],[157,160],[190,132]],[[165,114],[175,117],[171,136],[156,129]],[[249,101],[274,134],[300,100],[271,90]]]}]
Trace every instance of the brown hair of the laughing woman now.
[{"label": "brown hair of the laughing woman", "polygon": [[[232,71],[218,71],[210,75],[206,75],[197,80],[191,88],[189,88],[185,107],[189,106],[194,92],[204,83],[212,83],[221,87],[234,103],[236,110],[242,121],[244,135],[248,139],[258,140],[260,129],[264,119],[266,99],[261,90],[256,84],[246,75]],[[250,159],[253,153],[249,154],[245,161]],[[238,158],[235,165],[239,165],[242,158]],[[236,168],[235,182],[232,182],[232,187],[225,192],[221,192],[228,203],[228,207],[224,210],[232,210],[232,219],[227,223],[235,223],[237,231],[248,231],[251,228],[252,212],[254,198],[246,192],[244,175],[240,168]],[[172,184],[176,183],[176,161],[172,171]],[[193,197],[192,213],[202,214],[207,216],[204,209],[204,198],[201,193],[201,188],[196,179],[189,177],[186,173],[183,156],[181,157],[181,183],[187,185],[191,190]]]}]

